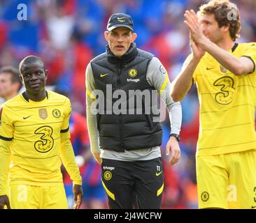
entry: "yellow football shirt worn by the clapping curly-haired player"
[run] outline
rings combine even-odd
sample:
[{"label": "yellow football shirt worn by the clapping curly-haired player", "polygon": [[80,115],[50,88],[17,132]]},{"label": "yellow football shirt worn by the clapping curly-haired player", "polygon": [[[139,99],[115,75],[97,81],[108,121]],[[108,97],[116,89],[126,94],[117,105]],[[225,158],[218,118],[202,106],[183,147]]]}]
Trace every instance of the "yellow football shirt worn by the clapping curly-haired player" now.
[{"label": "yellow football shirt worn by the clapping curly-haired player", "polygon": [[[256,62],[256,43],[239,43],[229,52]],[[234,75],[206,53],[193,80],[197,84],[200,105],[197,155],[255,149],[255,70],[250,74]]]}]

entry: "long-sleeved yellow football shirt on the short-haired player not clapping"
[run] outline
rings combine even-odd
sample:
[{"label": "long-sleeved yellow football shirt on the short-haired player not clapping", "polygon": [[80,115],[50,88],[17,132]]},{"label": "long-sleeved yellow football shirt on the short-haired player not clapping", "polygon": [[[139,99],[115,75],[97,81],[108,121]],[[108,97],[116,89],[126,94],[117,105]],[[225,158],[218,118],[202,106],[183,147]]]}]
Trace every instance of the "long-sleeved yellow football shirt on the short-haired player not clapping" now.
[{"label": "long-sleeved yellow football shirt on the short-haired player not clapping", "polygon": [[8,178],[10,185],[63,183],[62,162],[73,183],[82,183],[70,141],[70,100],[46,93],[41,102],[22,93],[1,107],[0,195],[6,194]]}]

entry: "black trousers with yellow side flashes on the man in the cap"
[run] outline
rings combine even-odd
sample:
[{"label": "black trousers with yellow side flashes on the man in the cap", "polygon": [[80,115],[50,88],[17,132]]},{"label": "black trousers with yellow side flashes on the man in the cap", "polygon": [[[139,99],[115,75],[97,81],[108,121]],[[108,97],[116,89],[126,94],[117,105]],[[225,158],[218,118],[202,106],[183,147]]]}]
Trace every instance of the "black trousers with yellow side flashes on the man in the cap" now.
[{"label": "black trousers with yellow side flashes on the man in the cap", "polygon": [[164,169],[160,157],[136,162],[102,159],[101,179],[111,209],[161,207]]}]

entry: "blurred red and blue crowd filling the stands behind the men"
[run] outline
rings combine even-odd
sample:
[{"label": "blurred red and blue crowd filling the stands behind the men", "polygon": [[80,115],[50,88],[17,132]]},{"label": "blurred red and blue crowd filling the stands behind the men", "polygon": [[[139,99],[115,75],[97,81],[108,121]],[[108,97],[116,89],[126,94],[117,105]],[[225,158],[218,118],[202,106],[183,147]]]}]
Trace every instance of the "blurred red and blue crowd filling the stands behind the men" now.
[{"label": "blurred red and blue crowd filling the stands behind the men", "polygon": [[[134,20],[139,48],[155,54],[173,80],[190,53],[183,24],[187,9],[197,10],[203,0],[0,0],[0,67],[17,67],[29,54],[40,56],[49,70],[48,85],[72,102],[71,139],[83,175],[83,208],[108,208],[101,185],[101,169],[90,154],[85,114],[85,68],[105,52],[104,31],[113,13],[127,13]],[[256,1],[236,0],[241,12],[241,38],[256,42]],[[27,6],[27,20],[17,20],[17,5]],[[199,130],[197,90],[193,86],[182,102],[183,125],[178,164],[170,167],[165,154],[169,118],[164,130],[162,159],[165,186],[162,208],[197,208],[195,151]],[[166,112],[166,111],[162,111]],[[72,199],[71,180],[64,171],[66,194]],[[70,200],[70,203],[72,201]]]}]

